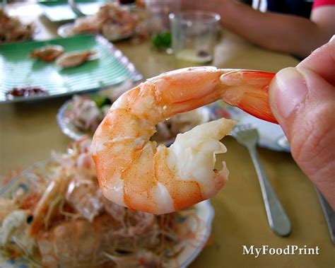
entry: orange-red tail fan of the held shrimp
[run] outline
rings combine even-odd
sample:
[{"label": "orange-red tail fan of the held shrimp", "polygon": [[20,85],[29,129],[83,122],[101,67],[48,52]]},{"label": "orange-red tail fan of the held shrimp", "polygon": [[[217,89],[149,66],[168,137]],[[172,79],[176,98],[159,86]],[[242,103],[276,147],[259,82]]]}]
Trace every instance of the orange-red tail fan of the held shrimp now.
[{"label": "orange-red tail fan of the held shrimp", "polygon": [[221,76],[227,88],[221,98],[254,117],[278,124],[269,105],[269,84],[274,76],[266,71],[229,71]]}]

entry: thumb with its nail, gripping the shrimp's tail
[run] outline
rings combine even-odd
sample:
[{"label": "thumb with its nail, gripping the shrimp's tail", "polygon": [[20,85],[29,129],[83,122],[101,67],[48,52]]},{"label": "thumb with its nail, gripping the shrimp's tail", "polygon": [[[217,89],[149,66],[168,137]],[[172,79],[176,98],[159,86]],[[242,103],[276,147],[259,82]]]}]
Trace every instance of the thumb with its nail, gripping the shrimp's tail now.
[{"label": "thumb with its nail, gripping the shrimp's tail", "polygon": [[283,69],[269,87],[292,156],[335,208],[335,88],[314,71]]}]

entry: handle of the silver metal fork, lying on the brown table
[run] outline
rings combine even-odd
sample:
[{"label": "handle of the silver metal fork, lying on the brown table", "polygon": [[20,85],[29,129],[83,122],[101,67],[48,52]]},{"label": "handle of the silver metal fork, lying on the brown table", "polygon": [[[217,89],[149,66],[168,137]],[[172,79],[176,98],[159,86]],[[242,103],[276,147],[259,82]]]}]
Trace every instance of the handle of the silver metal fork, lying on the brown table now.
[{"label": "handle of the silver metal fork, lying on the brown table", "polygon": [[263,195],[266,215],[269,225],[277,235],[286,236],[290,233],[291,225],[286,212],[281,205],[274,189],[272,189],[257,155],[255,147],[248,148],[254,167],[256,168],[259,184],[261,185],[261,194]]}]

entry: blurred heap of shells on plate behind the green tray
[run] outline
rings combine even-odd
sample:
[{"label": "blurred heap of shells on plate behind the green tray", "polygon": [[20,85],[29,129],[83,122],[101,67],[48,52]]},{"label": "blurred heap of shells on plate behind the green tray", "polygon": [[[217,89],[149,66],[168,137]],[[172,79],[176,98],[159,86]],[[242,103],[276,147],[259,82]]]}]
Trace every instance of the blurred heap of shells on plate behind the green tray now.
[{"label": "blurred heap of shells on plate behind the green tray", "polygon": [[127,7],[107,3],[95,15],[77,18],[71,34],[101,34],[108,40],[117,40],[119,37],[133,35],[137,24],[136,16]]}]

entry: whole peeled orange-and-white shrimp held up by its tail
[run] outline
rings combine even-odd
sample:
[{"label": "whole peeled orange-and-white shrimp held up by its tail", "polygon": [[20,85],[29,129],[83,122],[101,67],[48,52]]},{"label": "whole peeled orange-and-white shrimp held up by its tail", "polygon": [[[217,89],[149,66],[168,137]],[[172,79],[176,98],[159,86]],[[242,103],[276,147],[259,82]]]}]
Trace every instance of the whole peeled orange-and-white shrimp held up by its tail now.
[{"label": "whole peeled orange-and-white shrimp held up by its tail", "polygon": [[274,74],[195,67],[148,79],[113,103],[93,136],[91,151],[107,199],[153,214],[183,209],[213,197],[228,169],[214,169],[220,140],[235,121],[224,118],[178,134],[167,148],[150,141],[155,124],[216,100],[275,122],[267,100]]}]

